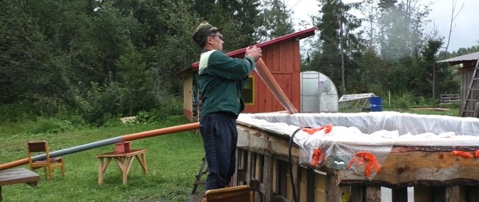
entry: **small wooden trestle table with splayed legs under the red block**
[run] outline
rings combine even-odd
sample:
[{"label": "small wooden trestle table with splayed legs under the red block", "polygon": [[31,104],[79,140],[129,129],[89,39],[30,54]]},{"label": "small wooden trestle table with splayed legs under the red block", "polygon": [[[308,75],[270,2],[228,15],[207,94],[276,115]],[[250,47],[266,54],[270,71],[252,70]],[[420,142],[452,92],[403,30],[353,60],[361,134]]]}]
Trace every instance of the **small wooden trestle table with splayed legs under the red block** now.
[{"label": "small wooden trestle table with splayed legs under the red block", "polygon": [[[131,168],[131,164],[133,163],[133,159],[138,159],[138,162],[142,165],[143,173],[145,175],[148,174],[148,167],[146,167],[146,149],[131,149],[129,152],[122,152],[122,153],[115,153],[115,152],[108,152],[105,154],[100,154],[96,156],[99,158],[99,173],[98,173],[98,184],[103,184],[103,175],[105,174],[105,170],[108,167],[108,164],[112,159],[116,161],[118,167],[122,172],[123,176],[123,185],[127,184],[127,177],[128,173]],[[106,162],[105,162],[106,159]]]}]

